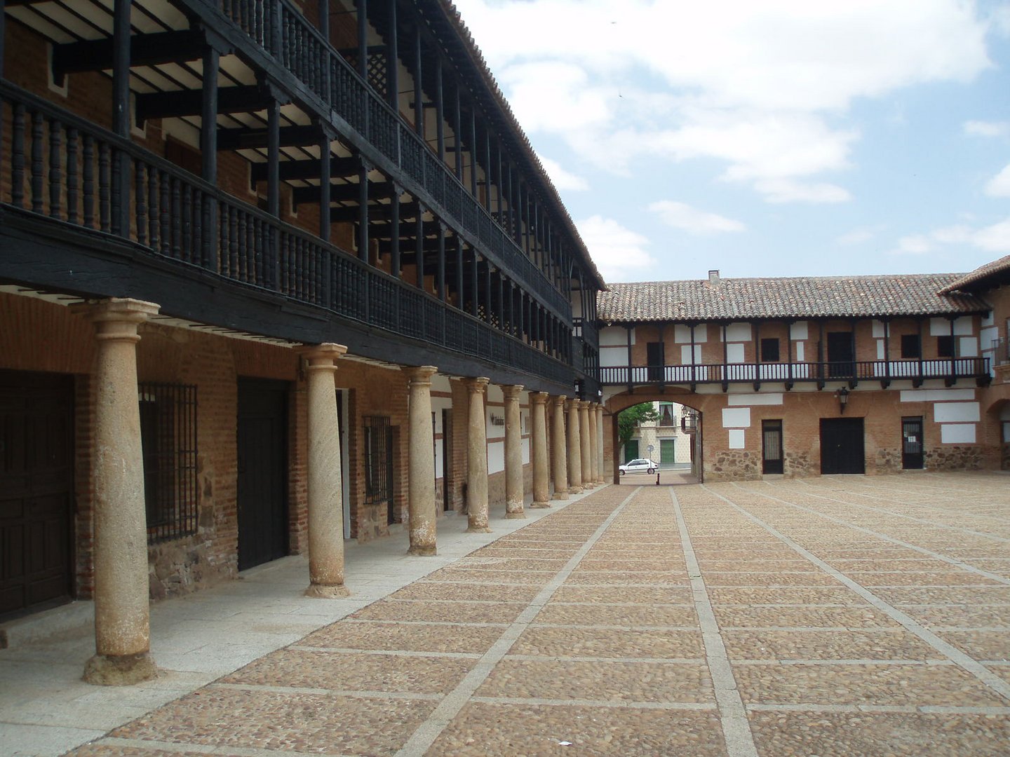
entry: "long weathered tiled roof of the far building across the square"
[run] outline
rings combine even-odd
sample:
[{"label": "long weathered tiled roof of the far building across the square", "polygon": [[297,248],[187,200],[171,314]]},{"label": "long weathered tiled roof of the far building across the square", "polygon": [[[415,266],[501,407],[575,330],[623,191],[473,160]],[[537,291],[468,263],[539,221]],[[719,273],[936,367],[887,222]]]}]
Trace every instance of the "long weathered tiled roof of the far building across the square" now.
[{"label": "long weathered tiled roof of the far building across the square", "polygon": [[734,321],[947,315],[989,309],[981,298],[940,294],[963,274],[722,279],[611,284],[597,295],[602,321]]}]

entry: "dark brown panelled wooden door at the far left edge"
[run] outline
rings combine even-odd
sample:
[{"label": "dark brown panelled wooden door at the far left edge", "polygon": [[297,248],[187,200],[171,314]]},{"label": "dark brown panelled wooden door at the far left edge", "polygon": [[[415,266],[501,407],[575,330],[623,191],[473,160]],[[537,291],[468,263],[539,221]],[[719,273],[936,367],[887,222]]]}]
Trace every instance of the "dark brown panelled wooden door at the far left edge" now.
[{"label": "dark brown panelled wooden door at the far left edge", "polygon": [[69,602],[73,379],[0,370],[0,619]]}]

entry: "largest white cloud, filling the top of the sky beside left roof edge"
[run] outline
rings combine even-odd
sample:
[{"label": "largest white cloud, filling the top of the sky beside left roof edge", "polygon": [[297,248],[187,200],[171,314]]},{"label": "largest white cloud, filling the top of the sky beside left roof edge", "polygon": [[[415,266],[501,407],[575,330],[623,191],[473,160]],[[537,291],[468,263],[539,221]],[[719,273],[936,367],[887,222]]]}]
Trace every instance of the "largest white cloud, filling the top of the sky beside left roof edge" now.
[{"label": "largest white cloud, filling the top of the sky beside left roof edge", "polygon": [[[858,99],[992,66],[961,0],[458,0],[520,123],[618,174],[714,158],[769,202],[836,203]],[[983,123],[983,122],[978,122]],[[970,128],[966,124],[966,130]],[[976,127],[971,127],[976,128]]]}]

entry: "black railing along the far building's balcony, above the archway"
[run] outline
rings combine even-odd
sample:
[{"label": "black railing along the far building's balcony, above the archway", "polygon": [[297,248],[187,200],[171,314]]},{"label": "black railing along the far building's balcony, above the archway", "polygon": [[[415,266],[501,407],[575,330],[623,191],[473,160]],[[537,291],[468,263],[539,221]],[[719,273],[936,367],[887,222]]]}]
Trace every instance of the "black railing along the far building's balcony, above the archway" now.
[{"label": "black railing along the far building's balcony, above the archway", "polygon": [[600,368],[600,383],[740,384],[754,382],[858,382],[898,379],[982,379],[988,357],[931,360],[858,360],[845,362],[740,362],[695,365],[619,365]]}]

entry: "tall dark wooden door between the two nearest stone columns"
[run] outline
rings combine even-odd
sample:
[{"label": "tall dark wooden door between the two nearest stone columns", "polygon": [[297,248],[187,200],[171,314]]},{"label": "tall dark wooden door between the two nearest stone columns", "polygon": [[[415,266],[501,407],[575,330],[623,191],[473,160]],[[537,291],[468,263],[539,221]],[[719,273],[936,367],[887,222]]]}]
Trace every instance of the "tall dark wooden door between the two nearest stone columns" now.
[{"label": "tall dark wooden door between the two nearest stone columns", "polygon": [[238,569],[288,554],[288,387],[238,381]]}]

